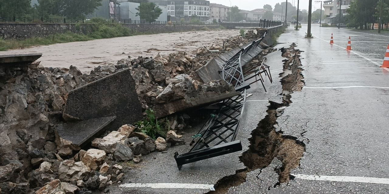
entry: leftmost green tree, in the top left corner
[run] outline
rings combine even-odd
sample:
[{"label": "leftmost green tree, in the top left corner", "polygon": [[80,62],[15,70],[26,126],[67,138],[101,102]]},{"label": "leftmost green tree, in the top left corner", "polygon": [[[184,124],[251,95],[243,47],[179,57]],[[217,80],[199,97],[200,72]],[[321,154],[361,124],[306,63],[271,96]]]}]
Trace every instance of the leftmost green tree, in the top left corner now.
[{"label": "leftmost green tree, in the top left corner", "polygon": [[23,17],[30,13],[31,0],[0,0],[0,16]]}]

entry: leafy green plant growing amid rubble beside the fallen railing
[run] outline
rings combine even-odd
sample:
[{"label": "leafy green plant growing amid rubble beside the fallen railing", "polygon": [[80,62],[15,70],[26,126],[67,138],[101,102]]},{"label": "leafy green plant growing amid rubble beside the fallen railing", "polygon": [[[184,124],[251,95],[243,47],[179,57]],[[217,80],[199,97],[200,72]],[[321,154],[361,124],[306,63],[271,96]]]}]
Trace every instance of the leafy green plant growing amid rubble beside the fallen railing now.
[{"label": "leafy green plant growing amid rubble beside the fallen railing", "polygon": [[169,121],[167,119],[158,120],[155,117],[155,111],[152,109],[147,109],[144,120],[139,121],[136,125],[139,132],[149,135],[152,139],[156,139],[158,135],[166,137],[166,133],[170,128]]}]

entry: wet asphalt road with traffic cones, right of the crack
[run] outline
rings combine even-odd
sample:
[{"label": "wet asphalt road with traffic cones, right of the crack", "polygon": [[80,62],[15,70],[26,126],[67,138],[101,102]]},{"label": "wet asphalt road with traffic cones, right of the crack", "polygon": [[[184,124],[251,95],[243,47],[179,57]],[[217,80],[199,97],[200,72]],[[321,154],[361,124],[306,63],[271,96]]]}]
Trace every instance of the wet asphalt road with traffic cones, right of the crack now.
[{"label": "wet asphalt road with traffic cones, right of the crack", "polygon": [[[292,171],[295,178],[273,188],[270,168],[280,165],[275,160],[260,179],[259,171],[249,173],[247,182],[229,193],[387,194],[389,69],[379,66],[389,37],[314,25],[314,38],[306,39],[306,29],[279,38],[306,51],[301,54],[306,85],[292,94],[293,103],[277,120],[284,135],[306,144],[300,167]],[[352,52],[345,50],[349,36]]]}]

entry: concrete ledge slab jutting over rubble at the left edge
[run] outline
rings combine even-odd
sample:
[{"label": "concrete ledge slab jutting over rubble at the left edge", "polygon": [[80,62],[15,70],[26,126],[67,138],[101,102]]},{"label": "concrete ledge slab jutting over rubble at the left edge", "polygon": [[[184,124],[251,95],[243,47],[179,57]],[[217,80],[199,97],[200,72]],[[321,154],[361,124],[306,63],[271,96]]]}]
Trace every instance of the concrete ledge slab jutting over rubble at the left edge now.
[{"label": "concrete ledge slab jutting over rubble at the left edge", "polygon": [[42,56],[42,53],[36,54],[17,54],[17,55],[0,55],[0,65],[22,64],[28,65],[37,61]]}]

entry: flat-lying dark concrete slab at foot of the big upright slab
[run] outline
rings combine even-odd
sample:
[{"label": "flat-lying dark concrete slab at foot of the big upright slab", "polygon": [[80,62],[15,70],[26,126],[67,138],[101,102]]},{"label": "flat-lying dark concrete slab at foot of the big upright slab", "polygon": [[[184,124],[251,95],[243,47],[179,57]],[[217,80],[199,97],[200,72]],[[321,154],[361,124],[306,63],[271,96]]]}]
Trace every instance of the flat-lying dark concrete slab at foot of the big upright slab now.
[{"label": "flat-lying dark concrete slab at foot of the big upright slab", "polygon": [[62,123],[57,126],[56,135],[81,147],[84,143],[93,139],[93,135],[100,132],[105,126],[115,120],[115,118],[116,116],[110,116]]}]

